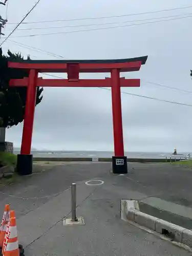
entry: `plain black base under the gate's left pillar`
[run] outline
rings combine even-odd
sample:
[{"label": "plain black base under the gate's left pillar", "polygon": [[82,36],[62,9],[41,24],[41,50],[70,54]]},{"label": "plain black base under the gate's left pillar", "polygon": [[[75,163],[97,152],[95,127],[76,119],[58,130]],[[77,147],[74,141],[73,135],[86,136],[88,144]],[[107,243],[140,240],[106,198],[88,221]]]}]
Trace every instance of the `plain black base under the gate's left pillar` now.
[{"label": "plain black base under the gate's left pillar", "polygon": [[19,175],[29,175],[33,172],[33,155],[17,155],[16,171]]}]

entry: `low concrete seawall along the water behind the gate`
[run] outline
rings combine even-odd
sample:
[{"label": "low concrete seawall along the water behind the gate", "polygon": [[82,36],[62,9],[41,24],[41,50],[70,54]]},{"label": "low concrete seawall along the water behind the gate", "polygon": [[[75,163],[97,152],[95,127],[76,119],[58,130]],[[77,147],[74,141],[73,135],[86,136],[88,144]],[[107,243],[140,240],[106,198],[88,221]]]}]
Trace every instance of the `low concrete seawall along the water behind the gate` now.
[{"label": "low concrete seawall along the water behind the gate", "polygon": [[[33,157],[34,162],[112,162],[112,158],[91,158],[91,157]],[[180,159],[153,159],[153,158],[127,158],[127,162],[135,163],[169,163],[180,161]]]}]

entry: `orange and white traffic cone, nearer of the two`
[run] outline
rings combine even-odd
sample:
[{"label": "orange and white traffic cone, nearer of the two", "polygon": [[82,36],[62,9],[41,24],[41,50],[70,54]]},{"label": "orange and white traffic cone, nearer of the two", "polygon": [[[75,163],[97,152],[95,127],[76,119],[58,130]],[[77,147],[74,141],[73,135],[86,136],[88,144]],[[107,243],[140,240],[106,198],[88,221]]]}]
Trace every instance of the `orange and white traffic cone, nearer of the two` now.
[{"label": "orange and white traffic cone, nearer of the two", "polygon": [[4,240],[3,256],[19,256],[16,218],[11,218],[7,225]]}]

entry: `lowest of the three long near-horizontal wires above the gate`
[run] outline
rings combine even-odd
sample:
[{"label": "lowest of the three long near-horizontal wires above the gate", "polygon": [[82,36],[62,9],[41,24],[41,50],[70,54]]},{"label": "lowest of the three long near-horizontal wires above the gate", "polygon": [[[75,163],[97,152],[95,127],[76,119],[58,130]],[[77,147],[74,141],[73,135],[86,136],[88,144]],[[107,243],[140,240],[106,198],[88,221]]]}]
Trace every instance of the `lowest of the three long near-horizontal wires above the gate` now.
[{"label": "lowest of the three long near-horizontal wires above the gate", "polygon": [[[154,24],[159,22],[168,22],[170,20],[176,20],[176,19],[183,19],[183,18],[190,18],[191,16],[185,16],[185,17],[178,17],[178,18],[170,18],[170,19],[161,19],[161,20],[155,20],[153,22],[145,22],[145,23],[138,23],[138,24],[129,24],[129,25],[123,25],[123,26],[115,26],[115,27],[106,27],[106,28],[95,28],[95,29],[83,29],[83,30],[75,30],[75,31],[64,31],[64,32],[56,32],[56,33],[45,33],[45,34],[33,34],[33,35],[20,35],[20,36],[13,36],[11,38],[16,37],[34,37],[34,36],[45,36],[45,35],[59,35],[59,34],[71,34],[71,33],[77,33],[77,32],[87,32],[87,31],[96,31],[96,30],[106,30],[106,29],[115,29],[115,28],[123,28],[123,27],[131,27],[131,26],[139,26],[139,25],[145,25],[145,24]],[[1,45],[0,45],[1,46]]]}]

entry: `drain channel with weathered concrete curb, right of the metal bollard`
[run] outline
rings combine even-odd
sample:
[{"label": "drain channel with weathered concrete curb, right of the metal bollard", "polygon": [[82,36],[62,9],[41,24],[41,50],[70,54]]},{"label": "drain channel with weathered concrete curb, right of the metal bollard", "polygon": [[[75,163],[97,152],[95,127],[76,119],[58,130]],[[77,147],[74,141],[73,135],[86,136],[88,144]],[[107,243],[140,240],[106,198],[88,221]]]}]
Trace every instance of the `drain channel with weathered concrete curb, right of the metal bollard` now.
[{"label": "drain channel with weathered concrete curb, right of the metal bollard", "polygon": [[[192,218],[192,217],[191,217]],[[153,230],[192,250],[192,219],[184,218],[136,200],[121,200],[121,219]]]}]

